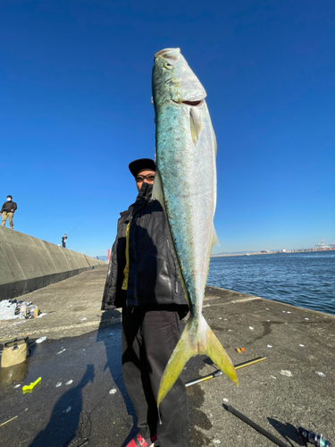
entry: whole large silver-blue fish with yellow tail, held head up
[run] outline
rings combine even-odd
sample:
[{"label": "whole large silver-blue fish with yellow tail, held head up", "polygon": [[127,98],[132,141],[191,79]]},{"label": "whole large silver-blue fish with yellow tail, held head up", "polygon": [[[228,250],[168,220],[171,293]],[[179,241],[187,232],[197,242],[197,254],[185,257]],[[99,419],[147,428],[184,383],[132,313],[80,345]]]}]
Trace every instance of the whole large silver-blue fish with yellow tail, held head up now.
[{"label": "whole large silver-blue fish with yellow tail, held head up", "polygon": [[205,283],[214,243],[216,140],[205,104],[205,89],[180,54],[155,54],[153,98],[156,123],[156,175],[153,197],[164,209],[188,298],[190,316],[165,367],[157,406],[189,358],[206,354],[238,384],[227,352],[202,315]]}]

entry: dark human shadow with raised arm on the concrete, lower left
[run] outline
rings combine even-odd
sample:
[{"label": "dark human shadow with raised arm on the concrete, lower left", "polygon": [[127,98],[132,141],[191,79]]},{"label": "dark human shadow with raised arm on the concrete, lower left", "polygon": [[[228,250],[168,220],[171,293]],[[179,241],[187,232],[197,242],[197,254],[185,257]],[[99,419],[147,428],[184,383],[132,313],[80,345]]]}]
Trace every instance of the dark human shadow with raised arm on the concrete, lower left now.
[{"label": "dark human shadow with raised arm on the concrete, lower left", "polygon": [[81,390],[95,377],[94,365],[88,365],[80,383],[65,392],[55,403],[46,428],[39,432],[29,447],[67,447],[70,445],[80,422],[82,410]]}]

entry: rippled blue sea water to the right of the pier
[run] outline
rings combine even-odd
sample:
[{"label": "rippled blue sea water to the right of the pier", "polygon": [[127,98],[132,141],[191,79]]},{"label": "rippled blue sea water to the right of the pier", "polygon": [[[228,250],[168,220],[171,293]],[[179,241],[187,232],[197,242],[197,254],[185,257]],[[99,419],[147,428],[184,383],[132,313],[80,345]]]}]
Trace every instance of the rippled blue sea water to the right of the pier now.
[{"label": "rippled blue sea water to the right of the pier", "polygon": [[335,250],[212,257],[207,285],[335,315]]}]

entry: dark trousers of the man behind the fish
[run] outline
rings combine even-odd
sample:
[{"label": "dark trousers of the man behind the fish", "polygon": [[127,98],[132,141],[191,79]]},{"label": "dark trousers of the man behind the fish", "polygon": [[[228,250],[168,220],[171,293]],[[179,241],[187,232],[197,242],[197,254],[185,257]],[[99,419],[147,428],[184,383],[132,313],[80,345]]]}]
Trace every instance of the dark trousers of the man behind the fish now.
[{"label": "dark trousers of the man behind the fish", "polygon": [[159,406],[163,370],[180,339],[179,315],[170,310],[122,309],[122,372],[138,417],[139,433],[157,434],[160,447],[188,446],[188,401],[179,377]]}]

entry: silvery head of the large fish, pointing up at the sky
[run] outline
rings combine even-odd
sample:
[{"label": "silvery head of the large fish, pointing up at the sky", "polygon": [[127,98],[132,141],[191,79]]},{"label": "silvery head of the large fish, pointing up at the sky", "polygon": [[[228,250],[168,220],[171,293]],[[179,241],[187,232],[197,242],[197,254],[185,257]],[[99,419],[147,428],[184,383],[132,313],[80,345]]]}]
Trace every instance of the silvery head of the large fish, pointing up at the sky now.
[{"label": "silvery head of the large fish, pointing up at the sky", "polygon": [[198,103],[206,97],[204,87],[189,68],[180,48],[166,48],[155,54],[153,97],[155,105],[162,100],[177,104]]}]

